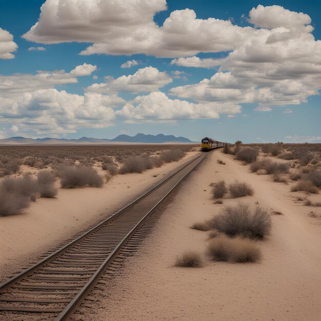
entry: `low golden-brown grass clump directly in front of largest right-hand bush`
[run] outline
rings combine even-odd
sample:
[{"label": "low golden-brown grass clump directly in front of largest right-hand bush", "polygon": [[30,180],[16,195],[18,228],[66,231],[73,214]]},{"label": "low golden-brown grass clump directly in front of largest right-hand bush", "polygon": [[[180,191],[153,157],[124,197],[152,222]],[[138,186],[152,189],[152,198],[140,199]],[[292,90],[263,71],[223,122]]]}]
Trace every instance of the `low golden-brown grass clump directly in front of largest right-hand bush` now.
[{"label": "low golden-brown grass clump directly in front of largest right-hand bush", "polygon": [[218,235],[210,241],[208,254],[215,261],[247,263],[260,259],[260,250],[252,240]]}]

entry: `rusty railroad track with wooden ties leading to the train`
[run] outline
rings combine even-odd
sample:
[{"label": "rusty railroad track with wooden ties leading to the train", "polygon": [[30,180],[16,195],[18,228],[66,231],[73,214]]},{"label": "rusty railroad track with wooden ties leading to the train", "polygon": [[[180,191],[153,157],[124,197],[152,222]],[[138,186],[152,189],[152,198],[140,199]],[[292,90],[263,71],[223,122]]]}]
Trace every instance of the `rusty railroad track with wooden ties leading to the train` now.
[{"label": "rusty railroad track with wooden ties leading to the train", "polygon": [[[205,157],[197,155],[122,210],[0,284],[0,317],[8,313],[12,319],[66,320],[119,252],[131,255],[136,239],[147,237],[150,228],[142,226]],[[134,245],[124,250],[131,239]]]}]

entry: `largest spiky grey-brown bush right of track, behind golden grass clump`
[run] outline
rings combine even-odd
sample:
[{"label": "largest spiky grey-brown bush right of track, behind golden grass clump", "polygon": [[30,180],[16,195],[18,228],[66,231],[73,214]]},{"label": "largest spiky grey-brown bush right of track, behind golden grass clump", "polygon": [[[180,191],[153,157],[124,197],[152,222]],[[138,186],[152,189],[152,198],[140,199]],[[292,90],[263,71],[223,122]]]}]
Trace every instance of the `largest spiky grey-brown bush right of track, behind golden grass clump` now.
[{"label": "largest spiky grey-brown bush right of track, behind golden grass clump", "polygon": [[209,224],[229,236],[263,238],[270,232],[271,217],[262,207],[255,206],[253,209],[247,204],[239,203],[225,207]]}]

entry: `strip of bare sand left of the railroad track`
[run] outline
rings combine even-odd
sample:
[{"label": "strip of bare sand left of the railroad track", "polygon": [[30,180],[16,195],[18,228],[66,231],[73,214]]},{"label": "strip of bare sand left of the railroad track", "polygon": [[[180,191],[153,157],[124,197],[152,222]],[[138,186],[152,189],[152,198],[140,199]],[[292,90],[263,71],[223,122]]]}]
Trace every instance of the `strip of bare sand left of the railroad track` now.
[{"label": "strip of bare sand left of the railroad track", "polygon": [[0,280],[127,205],[197,153],[141,174],[116,175],[103,188],[59,189],[56,198],[37,198],[24,213],[0,217]]}]

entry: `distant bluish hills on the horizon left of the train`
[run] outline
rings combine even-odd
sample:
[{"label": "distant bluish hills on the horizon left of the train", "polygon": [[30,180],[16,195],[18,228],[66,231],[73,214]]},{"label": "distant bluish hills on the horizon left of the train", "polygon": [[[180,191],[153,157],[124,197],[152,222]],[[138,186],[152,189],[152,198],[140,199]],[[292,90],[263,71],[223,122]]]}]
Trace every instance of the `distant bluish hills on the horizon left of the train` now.
[{"label": "distant bluish hills on the horizon left of the train", "polygon": [[93,137],[81,137],[79,139],[66,138],[26,138],[10,137],[0,139],[0,145],[94,145],[94,144],[115,144],[115,143],[144,143],[144,144],[164,144],[164,143],[193,143],[185,137],[175,137],[173,135],[145,135],[137,134],[135,136],[119,135],[113,139],[101,139]]}]

